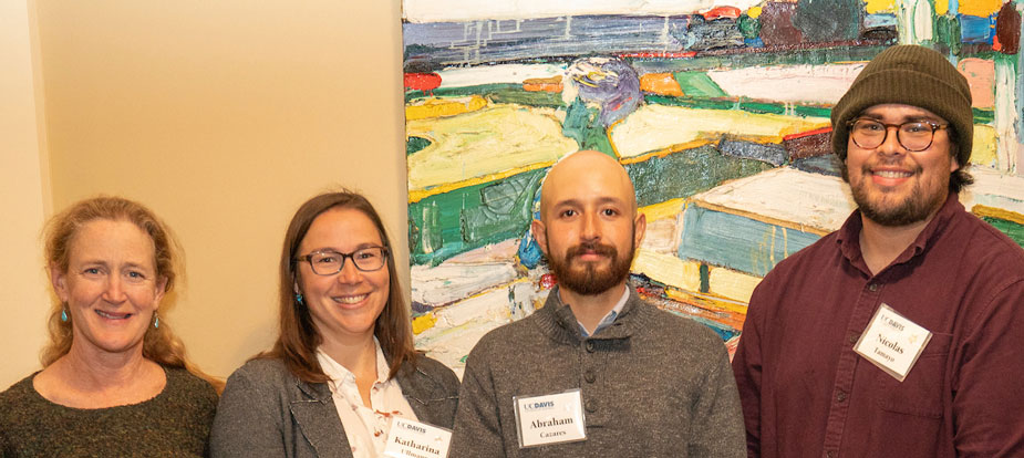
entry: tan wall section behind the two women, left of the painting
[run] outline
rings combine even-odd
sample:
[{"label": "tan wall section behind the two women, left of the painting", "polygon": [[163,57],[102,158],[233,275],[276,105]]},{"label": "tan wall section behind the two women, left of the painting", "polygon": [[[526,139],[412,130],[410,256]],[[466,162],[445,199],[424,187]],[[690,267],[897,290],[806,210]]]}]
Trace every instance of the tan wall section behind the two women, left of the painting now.
[{"label": "tan wall section behind the two women, left of the painting", "polygon": [[226,376],[272,342],[285,226],[313,194],[364,191],[407,266],[399,0],[40,1],[38,17],[53,207],[123,195],[170,225],[188,283],[163,320],[201,368]]}]

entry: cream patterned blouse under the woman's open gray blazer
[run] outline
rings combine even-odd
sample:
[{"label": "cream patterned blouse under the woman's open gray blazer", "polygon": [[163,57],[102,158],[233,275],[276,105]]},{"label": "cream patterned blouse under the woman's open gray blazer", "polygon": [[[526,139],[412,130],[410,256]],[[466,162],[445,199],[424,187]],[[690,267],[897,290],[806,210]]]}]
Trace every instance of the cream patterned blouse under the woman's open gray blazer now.
[{"label": "cream patterned blouse under the woman's open gray blazer", "polygon": [[371,406],[363,405],[363,398],[355,385],[355,375],[327,353],[317,351],[320,367],[331,378],[328,386],[331,388],[345,437],[352,447],[353,458],[376,458],[383,454],[387,435],[391,433],[392,417],[417,419],[402,394],[399,382],[394,378],[387,379],[390,367],[376,337],[373,339],[373,344],[376,347],[377,379],[370,388]]}]

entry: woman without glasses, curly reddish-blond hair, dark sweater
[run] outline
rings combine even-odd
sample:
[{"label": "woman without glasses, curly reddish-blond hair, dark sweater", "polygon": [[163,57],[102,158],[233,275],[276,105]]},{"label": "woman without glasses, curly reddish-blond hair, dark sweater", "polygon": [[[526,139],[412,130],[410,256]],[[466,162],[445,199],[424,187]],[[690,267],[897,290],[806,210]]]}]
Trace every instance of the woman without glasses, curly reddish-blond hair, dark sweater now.
[{"label": "woman without glasses, curly reddish-blond hair, dark sweater", "polygon": [[223,383],[167,323],[182,273],[169,229],[96,197],[54,216],[45,239],[50,343],[43,369],[0,393],[0,457],[206,456]]}]

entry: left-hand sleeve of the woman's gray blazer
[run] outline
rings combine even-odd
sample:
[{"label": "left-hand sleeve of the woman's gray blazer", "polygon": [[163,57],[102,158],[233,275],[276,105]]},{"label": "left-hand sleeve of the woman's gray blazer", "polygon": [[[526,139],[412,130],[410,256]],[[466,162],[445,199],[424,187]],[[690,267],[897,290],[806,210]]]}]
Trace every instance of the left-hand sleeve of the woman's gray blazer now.
[{"label": "left-hand sleeve of the woman's gray blazer", "polygon": [[228,378],[214,428],[210,431],[210,456],[218,457],[285,457],[283,421],[278,399],[280,387],[271,387],[254,377],[246,365]]}]

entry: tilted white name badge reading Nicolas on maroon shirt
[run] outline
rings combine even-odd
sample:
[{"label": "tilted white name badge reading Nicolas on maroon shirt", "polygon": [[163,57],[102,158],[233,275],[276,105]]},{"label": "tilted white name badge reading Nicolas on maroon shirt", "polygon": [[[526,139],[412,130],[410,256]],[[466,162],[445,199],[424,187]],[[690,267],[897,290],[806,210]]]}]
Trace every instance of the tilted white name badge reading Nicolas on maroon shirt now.
[{"label": "tilted white name badge reading Nicolas on maroon shirt", "polygon": [[931,332],[881,304],[854,351],[887,374],[903,382],[931,340]]}]

